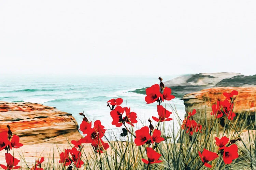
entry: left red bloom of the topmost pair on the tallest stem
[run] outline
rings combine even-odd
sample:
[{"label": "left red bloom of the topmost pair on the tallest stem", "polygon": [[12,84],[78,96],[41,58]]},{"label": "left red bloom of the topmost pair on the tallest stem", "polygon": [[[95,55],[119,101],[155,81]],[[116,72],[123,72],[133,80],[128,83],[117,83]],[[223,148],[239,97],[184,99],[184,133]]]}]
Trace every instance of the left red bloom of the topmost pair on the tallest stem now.
[{"label": "left red bloom of the topmost pair on the tallest stem", "polygon": [[147,102],[147,104],[157,101],[158,98],[162,96],[162,94],[160,93],[159,85],[154,84],[153,86],[146,88],[146,95],[147,96],[145,97],[145,101]]}]

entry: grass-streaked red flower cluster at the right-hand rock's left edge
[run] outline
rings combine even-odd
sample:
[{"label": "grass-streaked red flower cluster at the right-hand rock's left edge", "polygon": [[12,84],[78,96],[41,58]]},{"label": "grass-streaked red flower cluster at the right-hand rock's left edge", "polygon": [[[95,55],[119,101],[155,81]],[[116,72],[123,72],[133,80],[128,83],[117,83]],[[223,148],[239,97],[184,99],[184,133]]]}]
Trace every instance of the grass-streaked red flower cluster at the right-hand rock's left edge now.
[{"label": "grass-streaked red flower cluster at the right-hand rock's left edge", "polygon": [[202,125],[197,123],[195,120],[193,120],[193,115],[196,114],[196,110],[194,109],[191,112],[188,112],[187,117],[183,120],[183,123],[181,125],[181,129],[185,130],[186,133],[188,133],[190,136],[193,135],[194,132],[201,132],[202,133]]}]

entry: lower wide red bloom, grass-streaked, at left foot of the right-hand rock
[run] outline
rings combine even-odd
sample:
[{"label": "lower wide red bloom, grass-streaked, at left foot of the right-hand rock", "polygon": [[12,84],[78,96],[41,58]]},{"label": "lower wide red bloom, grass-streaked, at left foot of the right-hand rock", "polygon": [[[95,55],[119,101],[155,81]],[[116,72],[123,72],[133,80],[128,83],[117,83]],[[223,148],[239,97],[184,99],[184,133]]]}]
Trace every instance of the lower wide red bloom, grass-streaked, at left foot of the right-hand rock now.
[{"label": "lower wide red bloom, grass-streaked, at left foot of the right-hand rock", "polygon": [[195,120],[189,120],[189,117],[186,117],[183,120],[181,129],[187,129],[186,133],[189,133],[190,136],[192,136],[194,132],[199,131],[202,133],[202,125],[197,123]]}]

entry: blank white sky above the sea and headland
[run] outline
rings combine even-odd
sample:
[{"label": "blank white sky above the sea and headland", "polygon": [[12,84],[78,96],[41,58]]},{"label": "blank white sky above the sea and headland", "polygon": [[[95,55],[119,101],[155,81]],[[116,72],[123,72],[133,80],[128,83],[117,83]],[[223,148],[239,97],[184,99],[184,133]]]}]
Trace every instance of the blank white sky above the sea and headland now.
[{"label": "blank white sky above the sea and headland", "polygon": [[256,74],[256,1],[0,0],[0,74]]}]

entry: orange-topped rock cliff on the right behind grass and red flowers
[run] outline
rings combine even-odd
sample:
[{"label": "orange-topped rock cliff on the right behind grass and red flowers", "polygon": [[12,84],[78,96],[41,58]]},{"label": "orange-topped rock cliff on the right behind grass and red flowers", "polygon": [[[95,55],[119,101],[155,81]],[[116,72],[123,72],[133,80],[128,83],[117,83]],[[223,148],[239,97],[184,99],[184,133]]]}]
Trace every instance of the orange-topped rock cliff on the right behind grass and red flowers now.
[{"label": "orange-topped rock cliff on the right behind grass and red flowers", "polygon": [[[255,123],[255,105],[256,105],[256,87],[216,87],[210,89],[204,89],[198,92],[193,92],[187,94],[183,97],[186,112],[191,112],[196,109],[197,114],[194,115],[199,122],[205,122],[205,119],[210,122],[213,118],[210,113],[212,112],[212,105],[216,103],[218,99],[221,101],[225,100],[226,97],[223,96],[223,92],[231,92],[232,90],[237,90],[239,94],[235,100],[233,112],[236,113],[233,122],[236,121],[238,114],[239,123],[245,123],[248,125],[247,129],[255,129],[252,123]],[[232,122],[231,121],[231,122]]]}]

